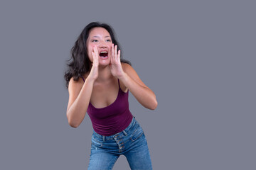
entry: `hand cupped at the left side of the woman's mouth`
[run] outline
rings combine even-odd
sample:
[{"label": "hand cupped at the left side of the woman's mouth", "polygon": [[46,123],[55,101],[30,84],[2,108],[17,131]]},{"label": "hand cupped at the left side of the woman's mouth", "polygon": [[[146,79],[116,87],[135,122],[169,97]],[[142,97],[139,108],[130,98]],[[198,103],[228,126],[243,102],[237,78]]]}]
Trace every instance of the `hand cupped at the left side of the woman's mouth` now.
[{"label": "hand cupped at the left side of the woman's mouth", "polygon": [[87,79],[89,78],[95,81],[95,79],[97,79],[99,74],[99,52],[97,50],[97,46],[93,47],[92,57],[93,57],[92,68],[90,70],[90,74],[88,75]]}]

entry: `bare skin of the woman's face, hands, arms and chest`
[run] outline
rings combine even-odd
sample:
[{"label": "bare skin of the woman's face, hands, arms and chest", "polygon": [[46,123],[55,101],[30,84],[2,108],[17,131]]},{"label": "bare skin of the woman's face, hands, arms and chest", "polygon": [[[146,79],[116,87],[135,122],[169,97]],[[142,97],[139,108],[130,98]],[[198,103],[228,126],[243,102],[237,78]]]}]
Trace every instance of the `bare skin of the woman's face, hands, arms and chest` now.
[{"label": "bare skin of the woman's face, hands, arms and chest", "polygon": [[[92,62],[90,72],[82,79],[70,79],[68,85],[69,99],[67,108],[68,123],[78,128],[85,118],[89,102],[96,108],[104,108],[114,103],[119,86],[122,91],[128,89],[145,108],[154,110],[157,106],[156,96],[147,87],[135,70],[120,62],[120,50],[112,44],[110,33],[105,28],[92,28],[86,41],[87,54]],[[100,51],[107,51],[108,57],[100,57]]]}]

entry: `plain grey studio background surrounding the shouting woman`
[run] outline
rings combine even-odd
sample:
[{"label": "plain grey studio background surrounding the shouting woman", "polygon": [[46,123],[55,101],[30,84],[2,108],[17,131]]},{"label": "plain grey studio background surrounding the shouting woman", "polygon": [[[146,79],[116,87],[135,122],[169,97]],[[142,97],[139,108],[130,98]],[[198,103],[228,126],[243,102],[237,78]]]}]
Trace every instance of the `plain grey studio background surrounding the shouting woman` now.
[{"label": "plain grey studio background surrounding the shouting woman", "polygon": [[256,169],[255,15],[255,1],[1,0],[0,169],[87,169],[92,125],[69,127],[63,74],[91,21],[157,96],[155,111],[129,97],[154,169]]}]

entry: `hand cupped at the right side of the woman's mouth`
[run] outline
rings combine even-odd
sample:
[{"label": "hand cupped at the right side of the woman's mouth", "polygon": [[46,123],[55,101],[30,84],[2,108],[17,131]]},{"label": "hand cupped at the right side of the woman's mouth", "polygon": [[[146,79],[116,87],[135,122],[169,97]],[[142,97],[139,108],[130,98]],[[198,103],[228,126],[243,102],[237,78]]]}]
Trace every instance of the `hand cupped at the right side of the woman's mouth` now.
[{"label": "hand cupped at the right side of the woman's mouth", "polygon": [[112,56],[110,59],[110,67],[111,67],[111,73],[114,77],[122,77],[124,74],[124,71],[122,69],[122,64],[120,60],[120,50],[117,52],[117,45],[112,44]]}]

